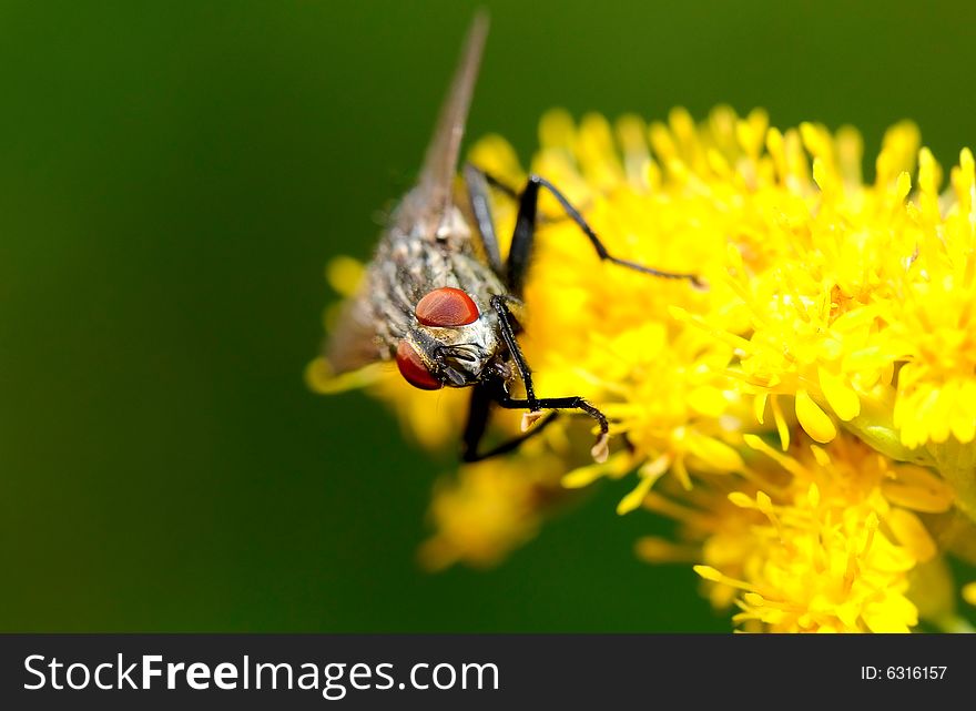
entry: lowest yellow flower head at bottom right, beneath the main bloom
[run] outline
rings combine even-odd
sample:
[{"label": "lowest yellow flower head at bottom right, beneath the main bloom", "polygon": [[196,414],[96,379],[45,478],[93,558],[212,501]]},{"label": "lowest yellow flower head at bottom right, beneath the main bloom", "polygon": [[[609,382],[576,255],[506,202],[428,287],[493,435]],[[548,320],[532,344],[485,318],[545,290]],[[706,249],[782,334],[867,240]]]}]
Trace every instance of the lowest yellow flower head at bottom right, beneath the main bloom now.
[{"label": "lowest yellow flower head at bottom right, beneath the main bloom", "polygon": [[[713,599],[736,592],[742,611],[734,619],[746,630],[905,632],[916,626],[909,576],[937,555],[918,515],[948,510],[948,487],[850,435],[827,447],[801,435],[789,455],[754,436],[746,444],[767,460],[755,461],[749,479],[702,481],[732,507],[715,507],[721,515],[711,529],[687,530],[702,545],[704,565],[695,570],[728,588]],[[660,507],[660,499],[648,506]]]}]

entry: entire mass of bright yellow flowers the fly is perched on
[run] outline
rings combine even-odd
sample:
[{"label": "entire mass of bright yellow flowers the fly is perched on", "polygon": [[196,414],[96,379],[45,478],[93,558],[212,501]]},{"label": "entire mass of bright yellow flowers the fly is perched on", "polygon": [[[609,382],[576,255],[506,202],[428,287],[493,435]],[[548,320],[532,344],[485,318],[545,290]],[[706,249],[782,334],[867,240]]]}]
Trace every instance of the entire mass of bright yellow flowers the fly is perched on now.
[{"label": "entire mass of bright yellow flowers the fly is perched on", "polygon": [[[525,180],[498,136],[469,158]],[[531,171],[611,254],[705,286],[601,264],[543,199],[521,342],[540,395],[583,395],[611,418],[612,454],[586,461],[587,423],[561,418],[515,457],[464,468],[435,495],[425,561],[498,560],[560,498],[560,476],[571,489],[636,473],[619,512],[663,514],[681,537],[639,555],[699,563],[743,630],[958,627],[958,591],[931,580],[976,548],[973,155],[941,192],[902,123],[868,182],[862,162],[853,129],[780,131],[762,111],[547,114]],[[498,195],[495,212],[510,234],[515,205]],[[401,412],[431,397],[383,387]],[[428,443],[444,431],[429,407],[411,412]]]}]

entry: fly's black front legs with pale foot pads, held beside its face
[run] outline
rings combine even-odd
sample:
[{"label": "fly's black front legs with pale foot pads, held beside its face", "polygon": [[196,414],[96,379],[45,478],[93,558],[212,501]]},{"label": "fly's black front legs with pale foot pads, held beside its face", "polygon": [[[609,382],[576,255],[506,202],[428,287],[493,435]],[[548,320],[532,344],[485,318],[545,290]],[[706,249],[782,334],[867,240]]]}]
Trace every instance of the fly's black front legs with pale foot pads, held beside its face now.
[{"label": "fly's black front legs with pale foot pads, held beside its face", "polygon": [[515,362],[515,367],[522,379],[522,384],[526,388],[526,397],[525,399],[514,398],[507,392],[502,390],[496,394],[495,402],[507,409],[528,409],[529,412],[522,418],[522,429],[528,429],[533,421],[542,418],[542,409],[578,409],[586,413],[596,419],[597,424],[600,426],[600,434],[597,436],[597,444],[593,445],[593,448],[590,451],[593,455],[593,459],[597,461],[606,461],[609,454],[607,443],[610,439],[610,426],[607,421],[607,416],[603,415],[603,413],[578,395],[571,397],[536,397],[536,388],[532,385],[532,372],[529,369],[529,365],[526,363],[526,357],[516,341],[515,327],[512,326],[514,317],[508,307],[508,302],[515,301],[517,299],[511,296],[492,296],[491,308],[494,308],[495,313],[498,315],[498,325],[501,329],[501,337],[505,341],[505,345],[508,346],[508,351]]}]

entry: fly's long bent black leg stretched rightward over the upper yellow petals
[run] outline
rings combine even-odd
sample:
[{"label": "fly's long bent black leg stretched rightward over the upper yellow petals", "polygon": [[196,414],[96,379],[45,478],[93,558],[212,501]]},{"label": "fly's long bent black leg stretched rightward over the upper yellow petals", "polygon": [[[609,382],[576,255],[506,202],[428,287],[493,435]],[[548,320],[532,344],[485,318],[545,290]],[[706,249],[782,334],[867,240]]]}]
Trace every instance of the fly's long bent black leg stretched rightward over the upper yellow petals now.
[{"label": "fly's long bent black leg stretched rightward over the upper yellow petals", "polygon": [[[491,185],[499,185],[498,181],[494,180],[487,174],[485,180]],[[518,217],[516,219],[515,232],[511,237],[511,247],[508,251],[506,276],[508,280],[508,287],[509,290],[511,290],[512,294],[520,295],[522,293],[522,287],[525,286],[526,272],[529,265],[529,258],[532,252],[532,243],[536,235],[536,216],[538,214],[539,191],[543,187],[548,190],[553,197],[556,197],[569,219],[577,224],[577,226],[580,228],[580,231],[582,231],[584,235],[587,235],[590,244],[593,246],[593,250],[597,251],[597,256],[599,256],[602,261],[611,262],[613,264],[618,264],[620,266],[633,270],[636,272],[641,272],[643,274],[650,274],[651,276],[688,280],[695,285],[701,285],[701,281],[695,274],[664,272],[662,270],[655,270],[651,266],[645,266],[637,262],[631,262],[629,260],[622,260],[620,257],[613,256],[607,251],[607,247],[603,245],[600,237],[597,235],[596,232],[593,232],[592,227],[587,224],[587,221],[579,213],[579,211],[572,206],[572,203],[569,202],[566,195],[563,195],[558,187],[556,187],[552,183],[550,183],[541,175],[530,175],[525,190],[522,190],[521,194],[518,196]]]}]

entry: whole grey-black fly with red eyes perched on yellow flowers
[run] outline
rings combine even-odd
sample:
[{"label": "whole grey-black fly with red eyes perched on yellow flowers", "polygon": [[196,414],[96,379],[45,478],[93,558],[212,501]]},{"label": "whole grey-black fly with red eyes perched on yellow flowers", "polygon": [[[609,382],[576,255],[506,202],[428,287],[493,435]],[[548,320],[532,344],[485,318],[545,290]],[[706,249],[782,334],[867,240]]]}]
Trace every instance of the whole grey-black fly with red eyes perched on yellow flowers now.
[{"label": "whole grey-black fly with red eyes perched on yellow flowers", "polygon": [[[551,423],[559,410],[578,410],[596,420],[599,434],[591,454],[603,461],[609,453],[607,417],[580,396],[539,397],[516,339],[521,329],[522,287],[532,252],[539,192],[546,190],[556,197],[602,261],[653,276],[692,283],[697,277],[609,254],[576,207],[539,175],[530,175],[519,192],[468,164],[464,166],[466,194],[462,199],[455,195],[460,143],[487,31],[486,16],[478,14],[468,31],[417,184],[390,215],[363,286],[346,303],[326,344],[325,357],[335,374],[376,360],[394,360],[414,387],[471,387],[462,437],[466,461],[515,449]],[[506,260],[498,247],[489,185],[518,201]],[[525,397],[512,395],[518,382]],[[479,453],[492,404],[527,410],[522,416],[523,434]]]}]

